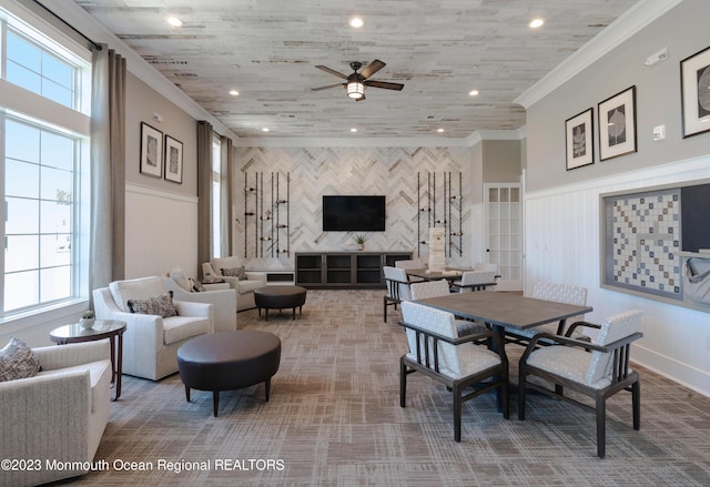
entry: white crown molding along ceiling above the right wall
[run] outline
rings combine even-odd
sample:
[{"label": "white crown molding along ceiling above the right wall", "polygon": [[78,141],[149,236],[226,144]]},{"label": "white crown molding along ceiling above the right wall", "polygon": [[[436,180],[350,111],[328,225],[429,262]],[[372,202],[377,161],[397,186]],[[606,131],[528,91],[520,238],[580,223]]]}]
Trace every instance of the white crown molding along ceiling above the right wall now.
[{"label": "white crown molding along ceiling above the right wall", "polygon": [[514,102],[527,110],[681,1],[640,0]]}]

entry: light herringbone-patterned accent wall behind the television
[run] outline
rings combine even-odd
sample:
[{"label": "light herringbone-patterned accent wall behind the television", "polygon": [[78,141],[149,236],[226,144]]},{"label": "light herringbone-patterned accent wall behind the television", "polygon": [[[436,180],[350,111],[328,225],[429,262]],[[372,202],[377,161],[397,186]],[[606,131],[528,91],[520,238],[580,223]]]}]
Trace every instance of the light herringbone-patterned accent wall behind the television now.
[{"label": "light herringbone-patterned accent wall behind the television", "polygon": [[[469,148],[237,148],[233,189],[234,255],[245,256],[253,266],[254,258],[271,261],[256,265],[268,267],[273,266],[273,258],[278,258],[291,267],[294,252],[341,251],[343,245],[352,243],[353,234],[323,232],[322,196],[384,194],[387,196],[386,231],[369,233],[365,250],[405,250],[426,258],[427,245],[417,243],[428,239],[429,212],[419,209],[430,209],[432,221],[434,216],[442,221],[436,226],[444,226],[446,220],[450,232],[463,229],[463,237],[452,240],[454,245],[447,263],[464,264],[470,252],[470,235],[466,234],[471,202],[467,194],[471,187],[470,160]],[[278,174],[280,182],[278,197],[273,199],[276,189],[272,186],[272,174]],[[280,222],[284,223],[285,207],[272,209],[272,201],[286,199],[287,177],[290,225],[278,232],[276,248],[272,222],[261,219],[275,219],[278,211]],[[449,199],[449,195],[463,199]]]}]

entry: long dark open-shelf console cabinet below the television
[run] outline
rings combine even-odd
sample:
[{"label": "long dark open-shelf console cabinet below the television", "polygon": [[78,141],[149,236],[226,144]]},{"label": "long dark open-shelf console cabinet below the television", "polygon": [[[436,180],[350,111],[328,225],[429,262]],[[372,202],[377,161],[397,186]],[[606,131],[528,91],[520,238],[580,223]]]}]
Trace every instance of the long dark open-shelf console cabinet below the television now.
[{"label": "long dark open-shelf console cabinet below the television", "polygon": [[384,288],[382,267],[412,252],[296,252],[296,285],[315,288]]}]

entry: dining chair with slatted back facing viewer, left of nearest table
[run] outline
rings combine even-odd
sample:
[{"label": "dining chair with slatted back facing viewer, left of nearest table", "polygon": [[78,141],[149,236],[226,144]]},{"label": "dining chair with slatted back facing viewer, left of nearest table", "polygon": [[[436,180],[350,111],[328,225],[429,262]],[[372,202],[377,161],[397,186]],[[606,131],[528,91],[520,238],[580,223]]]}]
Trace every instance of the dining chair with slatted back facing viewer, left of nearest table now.
[{"label": "dining chair with slatted back facing viewer, left of nearest table", "polygon": [[[407,376],[419,372],[453,393],[454,439],[462,440],[463,404],[481,394],[497,390],[503,417],[509,417],[508,358],[503,346],[493,352],[470,342],[500,337],[490,329],[458,336],[452,313],[415,302],[402,303],[409,352],[399,359],[399,406],[406,407]],[[475,388],[468,388],[469,386]],[[468,389],[467,389],[468,388]]]}]

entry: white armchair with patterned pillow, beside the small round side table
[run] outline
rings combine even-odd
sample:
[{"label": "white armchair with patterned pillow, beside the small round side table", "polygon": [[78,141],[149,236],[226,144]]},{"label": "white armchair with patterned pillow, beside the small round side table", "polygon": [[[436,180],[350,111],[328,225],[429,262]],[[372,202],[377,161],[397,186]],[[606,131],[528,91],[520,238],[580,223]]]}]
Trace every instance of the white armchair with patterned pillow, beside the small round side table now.
[{"label": "white armchair with patterned pillow, beside the small round side table", "polygon": [[131,313],[130,300],[151,300],[166,293],[158,276],[114,281],[93,291],[99,319],[126,323],[123,335],[123,373],[151,381],[178,372],[178,348],[190,338],[214,331],[214,306],[173,301],[178,316]]}]

